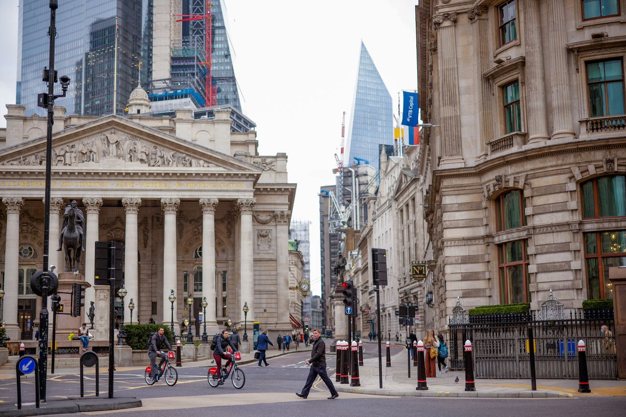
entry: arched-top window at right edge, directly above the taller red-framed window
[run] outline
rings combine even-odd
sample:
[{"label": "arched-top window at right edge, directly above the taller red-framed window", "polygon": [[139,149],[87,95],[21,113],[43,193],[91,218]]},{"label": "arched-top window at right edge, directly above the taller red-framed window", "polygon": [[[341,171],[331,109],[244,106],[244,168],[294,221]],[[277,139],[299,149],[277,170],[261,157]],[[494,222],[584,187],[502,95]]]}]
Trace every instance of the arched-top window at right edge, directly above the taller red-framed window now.
[{"label": "arched-top window at right edge, directly above the taller red-framed window", "polygon": [[626,176],[607,175],[581,185],[583,219],[626,216]]}]

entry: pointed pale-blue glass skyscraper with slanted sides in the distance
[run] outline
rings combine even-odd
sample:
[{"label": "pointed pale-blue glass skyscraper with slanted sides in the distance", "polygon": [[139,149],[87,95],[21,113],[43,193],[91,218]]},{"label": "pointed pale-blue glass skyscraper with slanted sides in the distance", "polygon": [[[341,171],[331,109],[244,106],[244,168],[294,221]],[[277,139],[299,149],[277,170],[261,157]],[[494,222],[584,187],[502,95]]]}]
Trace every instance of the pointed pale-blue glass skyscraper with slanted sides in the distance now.
[{"label": "pointed pale-blue glass skyscraper with slanted sides in the distance", "polygon": [[361,42],[359,75],[344,153],[348,158],[344,161],[344,166],[358,165],[360,162],[378,169],[380,158],[378,145],[393,145],[392,118],[391,95],[382,82],[365,44]]}]

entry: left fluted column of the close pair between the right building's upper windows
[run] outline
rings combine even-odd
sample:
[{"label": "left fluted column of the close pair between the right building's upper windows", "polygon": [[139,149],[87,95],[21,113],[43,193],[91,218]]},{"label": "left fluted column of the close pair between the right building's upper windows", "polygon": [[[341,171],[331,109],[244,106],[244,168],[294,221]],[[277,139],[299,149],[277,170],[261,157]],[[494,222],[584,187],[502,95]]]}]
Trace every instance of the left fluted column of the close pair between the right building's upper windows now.
[{"label": "left fluted column of the close pair between the right building's upper windows", "polygon": [[[543,45],[538,0],[528,0],[524,13],[526,28],[526,120],[528,121],[528,143],[546,141],[545,74],[543,71]],[[565,43],[563,43],[565,45]],[[521,89],[520,89],[521,90]]]}]

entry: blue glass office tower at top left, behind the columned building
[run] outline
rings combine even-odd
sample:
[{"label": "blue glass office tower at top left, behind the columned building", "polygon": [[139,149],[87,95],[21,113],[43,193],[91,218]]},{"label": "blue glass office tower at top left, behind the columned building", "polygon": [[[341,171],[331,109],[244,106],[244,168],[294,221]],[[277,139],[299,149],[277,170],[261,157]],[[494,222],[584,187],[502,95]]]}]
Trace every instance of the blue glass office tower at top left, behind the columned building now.
[{"label": "blue glass office tower at top left, behind the columned building", "polygon": [[[139,62],[143,62],[142,82],[147,82],[151,73],[153,1],[59,2],[54,69],[72,80],[67,97],[54,104],[64,106],[68,114],[113,113],[115,78],[116,113],[123,113],[138,83]],[[41,71],[48,66],[49,16],[47,2],[19,1],[16,103],[26,107],[26,115],[44,114],[44,109],[37,107],[37,94],[47,91]]]}]

